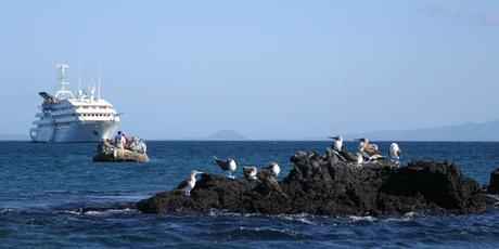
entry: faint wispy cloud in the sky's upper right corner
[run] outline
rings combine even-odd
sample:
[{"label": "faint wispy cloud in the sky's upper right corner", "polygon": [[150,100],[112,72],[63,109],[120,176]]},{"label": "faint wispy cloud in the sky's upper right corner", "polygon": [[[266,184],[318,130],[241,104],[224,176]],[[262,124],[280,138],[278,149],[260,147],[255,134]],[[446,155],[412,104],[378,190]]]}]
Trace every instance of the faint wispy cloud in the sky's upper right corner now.
[{"label": "faint wispy cloud in the sky's upper right corner", "polygon": [[499,13],[470,13],[456,4],[424,6],[418,10],[418,13],[434,18],[452,18],[461,24],[499,27]]}]

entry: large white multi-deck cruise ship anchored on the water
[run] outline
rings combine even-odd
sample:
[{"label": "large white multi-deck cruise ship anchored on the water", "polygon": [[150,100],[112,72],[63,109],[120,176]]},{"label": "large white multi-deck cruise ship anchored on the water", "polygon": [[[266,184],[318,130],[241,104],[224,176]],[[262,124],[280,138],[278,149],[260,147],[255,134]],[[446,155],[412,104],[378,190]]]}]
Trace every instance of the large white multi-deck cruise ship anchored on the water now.
[{"label": "large white multi-deck cruise ship anchored on the water", "polygon": [[31,141],[80,143],[113,137],[119,127],[119,114],[111,103],[101,99],[100,77],[97,96],[95,86],[89,88],[87,93],[78,86],[78,93],[74,96],[66,89],[69,84],[66,81],[69,66],[59,64],[56,67],[61,70],[61,89],[55,95],[39,93],[43,102],[39,106],[41,112],[36,114],[34,127],[29,130]]}]

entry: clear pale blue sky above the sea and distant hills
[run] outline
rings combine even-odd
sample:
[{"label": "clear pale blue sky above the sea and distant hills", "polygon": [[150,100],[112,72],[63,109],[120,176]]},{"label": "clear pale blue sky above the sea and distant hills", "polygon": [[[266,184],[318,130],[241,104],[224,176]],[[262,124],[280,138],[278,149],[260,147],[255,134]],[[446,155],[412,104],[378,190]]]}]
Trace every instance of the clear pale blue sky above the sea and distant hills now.
[{"label": "clear pale blue sky above the sea and distant hills", "polygon": [[293,139],[499,118],[499,1],[1,1],[0,121],[55,64],[150,139]]}]

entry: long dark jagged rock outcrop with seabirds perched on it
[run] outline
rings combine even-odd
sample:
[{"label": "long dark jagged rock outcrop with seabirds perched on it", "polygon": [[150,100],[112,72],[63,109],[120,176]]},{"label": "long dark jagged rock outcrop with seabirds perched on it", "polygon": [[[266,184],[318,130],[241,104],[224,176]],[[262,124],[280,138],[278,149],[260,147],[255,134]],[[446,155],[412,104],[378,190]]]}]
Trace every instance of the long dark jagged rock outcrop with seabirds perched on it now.
[{"label": "long dark jagged rock outcrop with seabirds perched on it", "polygon": [[497,202],[452,162],[418,160],[397,167],[379,160],[358,167],[331,152],[325,156],[298,152],[291,161],[294,168],[278,184],[203,174],[191,196],[180,191],[158,193],[137,208],[145,213],[217,209],[265,214],[465,214]]}]

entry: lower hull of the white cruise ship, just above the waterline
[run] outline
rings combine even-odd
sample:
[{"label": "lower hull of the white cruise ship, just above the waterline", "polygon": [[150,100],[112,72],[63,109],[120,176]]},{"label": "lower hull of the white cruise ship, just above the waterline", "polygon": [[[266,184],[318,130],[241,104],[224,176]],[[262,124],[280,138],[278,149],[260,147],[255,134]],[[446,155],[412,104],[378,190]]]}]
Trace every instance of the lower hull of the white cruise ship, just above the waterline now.
[{"label": "lower hull of the white cruise ship, just above the waterline", "polygon": [[31,140],[42,143],[85,143],[112,139],[118,130],[116,121],[73,122],[67,127],[43,127],[31,130]]}]

